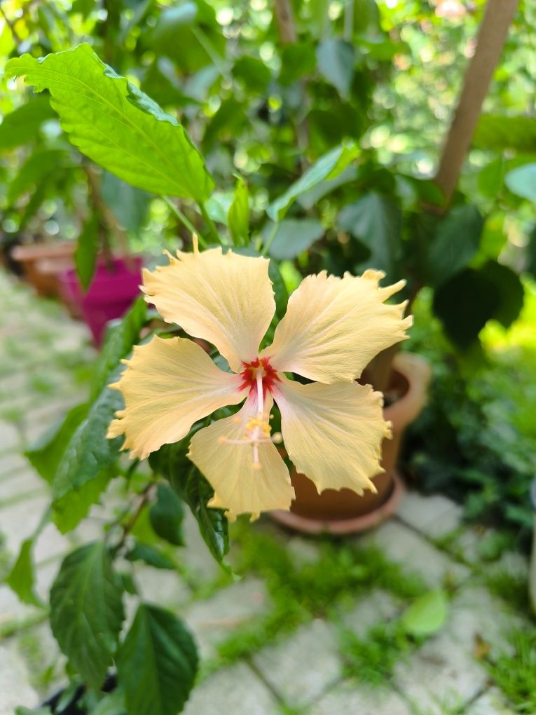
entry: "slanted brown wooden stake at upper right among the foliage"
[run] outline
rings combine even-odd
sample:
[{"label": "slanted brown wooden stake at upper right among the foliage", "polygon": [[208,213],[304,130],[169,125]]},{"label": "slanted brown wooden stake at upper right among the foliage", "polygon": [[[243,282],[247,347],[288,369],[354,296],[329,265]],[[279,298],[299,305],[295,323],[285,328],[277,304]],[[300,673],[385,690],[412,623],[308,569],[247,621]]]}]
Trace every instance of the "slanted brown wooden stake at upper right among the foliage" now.
[{"label": "slanted brown wooden stake at upper right among the foliage", "polygon": [[475,55],[465,73],[462,93],[443,147],[435,182],[450,204],[463,162],[477,126],[482,103],[499,63],[508,28],[519,0],[488,0],[478,33]]}]

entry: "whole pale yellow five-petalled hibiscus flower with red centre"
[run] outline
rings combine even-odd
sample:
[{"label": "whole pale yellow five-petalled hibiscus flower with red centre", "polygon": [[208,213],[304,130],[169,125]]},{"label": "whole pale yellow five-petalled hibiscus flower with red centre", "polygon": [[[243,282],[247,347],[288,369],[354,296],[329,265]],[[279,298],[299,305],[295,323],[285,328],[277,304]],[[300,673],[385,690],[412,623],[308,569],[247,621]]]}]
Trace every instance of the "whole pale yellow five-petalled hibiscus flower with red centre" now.
[{"label": "whole pale yellow five-petalled hibiscus flower with red centre", "polygon": [[[209,506],[239,513],[289,509],[294,498],[284,450],[317,490],[375,491],[382,439],[390,425],[382,394],[356,378],[380,350],[405,337],[412,323],[405,303],[384,301],[403,285],[380,287],[384,274],[367,270],[339,278],[309,275],[289,298],[274,341],[259,352],[275,312],[269,261],[221,248],[177,252],[169,265],[144,270],[142,290],[167,322],[206,340],[226,358],[220,370],[196,342],[153,337],[134,347],[119,382],[125,408],[109,438],[146,458],[184,438],[194,423],[224,407],[244,405],[232,417],[194,434],[188,456],[204,473],[214,497]],[[289,379],[301,375],[313,382]],[[272,435],[277,403],[281,430]]]}]

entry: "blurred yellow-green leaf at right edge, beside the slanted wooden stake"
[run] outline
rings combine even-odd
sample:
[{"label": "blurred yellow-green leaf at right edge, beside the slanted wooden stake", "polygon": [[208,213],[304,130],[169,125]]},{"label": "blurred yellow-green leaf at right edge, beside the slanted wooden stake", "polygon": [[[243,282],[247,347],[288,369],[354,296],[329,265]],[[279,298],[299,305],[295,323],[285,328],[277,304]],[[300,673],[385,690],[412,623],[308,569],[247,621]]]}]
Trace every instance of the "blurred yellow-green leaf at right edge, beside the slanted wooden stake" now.
[{"label": "blurred yellow-green leaf at right edge, beside the slanted wooden stake", "polygon": [[516,149],[536,153],[536,119],[482,114],[472,139],[479,149]]}]

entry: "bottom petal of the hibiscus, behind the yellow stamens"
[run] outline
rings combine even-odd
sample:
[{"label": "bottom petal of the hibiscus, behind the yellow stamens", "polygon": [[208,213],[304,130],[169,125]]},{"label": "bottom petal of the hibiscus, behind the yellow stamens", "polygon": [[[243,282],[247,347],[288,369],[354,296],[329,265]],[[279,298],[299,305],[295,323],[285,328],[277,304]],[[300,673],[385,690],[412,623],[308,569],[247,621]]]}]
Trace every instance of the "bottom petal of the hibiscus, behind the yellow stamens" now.
[{"label": "bottom petal of the hibiscus, behind the yellow stamens", "polygon": [[[267,410],[271,405],[272,400],[267,400]],[[257,401],[249,398],[234,417],[204,427],[190,443],[189,458],[214,488],[209,506],[227,509],[229,518],[242,513],[255,518],[262,511],[289,509],[294,498],[289,470],[272,442],[257,446],[257,468],[252,445],[224,443],[242,440],[256,409]]]}]

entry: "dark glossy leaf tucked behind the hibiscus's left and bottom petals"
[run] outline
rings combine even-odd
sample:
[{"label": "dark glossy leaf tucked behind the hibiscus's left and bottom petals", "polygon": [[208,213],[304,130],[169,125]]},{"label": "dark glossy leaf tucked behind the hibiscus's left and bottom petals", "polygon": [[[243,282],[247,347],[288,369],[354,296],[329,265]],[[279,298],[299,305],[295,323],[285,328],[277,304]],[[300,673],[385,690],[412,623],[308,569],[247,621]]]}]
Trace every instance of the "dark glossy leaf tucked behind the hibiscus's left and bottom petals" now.
[{"label": "dark glossy leaf tucked behind the hibiscus's left and bottom petals", "polygon": [[229,551],[227,518],[221,509],[207,507],[214,490],[187,458],[190,439],[194,431],[203,426],[204,422],[197,423],[187,438],[174,445],[164,445],[149,455],[149,464],[155,472],[169,480],[182,501],[187,503],[212,556],[221,562]]}]

